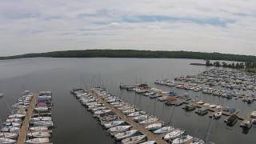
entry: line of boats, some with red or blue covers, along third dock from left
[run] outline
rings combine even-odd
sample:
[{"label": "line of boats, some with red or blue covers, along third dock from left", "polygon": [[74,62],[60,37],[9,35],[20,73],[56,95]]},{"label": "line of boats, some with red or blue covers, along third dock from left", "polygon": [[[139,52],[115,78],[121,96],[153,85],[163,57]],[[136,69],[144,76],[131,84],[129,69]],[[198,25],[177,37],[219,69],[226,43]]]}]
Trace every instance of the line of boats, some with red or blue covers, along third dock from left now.
[{"label": "line of boats, some with red or blue covers, along third dock from left", "polygon": [[[152,97],[150,97],[150,95],[148,94],[157,94],[158,96],[154,98],[158,98],[159,101],[165,102],[167,106],[181,106],[183,103],[186,103],[186,106],[183,106],[182,108],[187,111],[195,110],[197,106],[199,106],[201,108],[195,111],[195,113],[198,115],[208,114],[209,109],[211,109],[214,112],[210,114],[210,118],[213,117],[215,119],[218,119],[222,116],[223,113],[230,114],[230,116],[226,118],[224,121],[228,126],[234,126],[234,124],[238,121],[238,115],[236,114],[238,113],[239,110],[237,110],[232,106],[222,106],[222,105],[204,102],[202,100],[195,101],[195,100],[192,100],[188,96],[188,94],[184,94],[180,96],[175,91],[162,92],[162,90],[150,88],[146,84],[134,84],[134,86],[121,84],[120,88],[134,91],[135,93],[138,93],[138,91],[140,92],[143,91],[138,94],[148,96],[149,98],[152,98]],[[256,114],[255,111],[253,111],[248,118],[245,118],[241,122],[240,126],[242,126],[245,129],[250,129],[253,123],[256,122],[255,114]]]}]

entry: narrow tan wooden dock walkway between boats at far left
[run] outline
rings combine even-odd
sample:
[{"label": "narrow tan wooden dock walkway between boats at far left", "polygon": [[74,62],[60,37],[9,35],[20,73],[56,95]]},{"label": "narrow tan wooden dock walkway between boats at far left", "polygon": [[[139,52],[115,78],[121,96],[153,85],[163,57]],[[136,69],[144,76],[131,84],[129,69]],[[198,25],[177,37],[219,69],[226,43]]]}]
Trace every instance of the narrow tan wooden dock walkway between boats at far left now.
[{"label": "narrow tan wooden dock walkway between boats at far left", "polygon": [[17,141],[18,144],[24,144],[25,141],[26,141],[27,130],[30,126],[30,118],[33,115],[34,106],[37,102],[37,99],[38,99],[38,94],[33,94],[32,100],[30,102],[30,106],[29,106],[29,108],[27,109],[27,112],[26,112],[26,117],[25,117],[25,119],[22,123],[22,128],[21,128],[21,130],[19,131],[19,134],[18,134],[18,141]]}]

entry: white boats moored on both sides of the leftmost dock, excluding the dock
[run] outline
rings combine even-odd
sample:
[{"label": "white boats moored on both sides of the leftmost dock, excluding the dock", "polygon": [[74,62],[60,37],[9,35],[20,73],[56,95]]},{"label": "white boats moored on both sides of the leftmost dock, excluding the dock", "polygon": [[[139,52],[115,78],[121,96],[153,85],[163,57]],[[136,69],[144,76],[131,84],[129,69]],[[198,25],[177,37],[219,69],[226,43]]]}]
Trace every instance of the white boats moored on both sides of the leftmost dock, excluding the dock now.
[{"label": "white boats moored on both sides of the leftmost dock, excluding the dock", "polygon": [[[27,110],[34,94],[29,90],[25,90],[18,101],[11,106],[10,115],[8,115],[6,122],[2,122],[0,132],[1,144],[14,144],[18,141],[18,136],[26,118]],[[28,144],[50,143],[51,131],[50,127],[51,118],[45,117],[40,114],[41,106],[50,106],[51,104],[50,91],[39,92],[38,101],[36,103],[34,114],[30,118],[30,126],[26,133],[26,142]],[[51,125],[52,126],[52,125]]]}]

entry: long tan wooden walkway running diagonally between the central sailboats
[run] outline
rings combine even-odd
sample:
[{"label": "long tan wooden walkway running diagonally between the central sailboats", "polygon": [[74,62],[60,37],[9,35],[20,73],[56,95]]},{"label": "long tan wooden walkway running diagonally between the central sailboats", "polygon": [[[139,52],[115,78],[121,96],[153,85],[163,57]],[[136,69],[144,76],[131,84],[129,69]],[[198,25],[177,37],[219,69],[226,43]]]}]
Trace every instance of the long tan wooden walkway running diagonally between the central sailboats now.
[{"label": "long tan wooden walkway running diagonally between the central sailboats", "polygon": [[94,91],[90,91],[94,98],[98,98],[98,102],[102,102],[106,108],[112,110],[114,114],[118,115],[123,121],[127,122],[130,126],[133,126],[133,129],[139,130],[142,134],[146,135],[149,141],[155,141],[158,144],[167,144],[166,141],[162,140],[162,135],[153,134],[150,130],[146,130],[144,126],[139,125],[137,122],[134,122],[132,118],[127,117],[125,114],[122,114],[121,110],[114,108],[108,102],[106,102],[102,97],[98,96]]}]

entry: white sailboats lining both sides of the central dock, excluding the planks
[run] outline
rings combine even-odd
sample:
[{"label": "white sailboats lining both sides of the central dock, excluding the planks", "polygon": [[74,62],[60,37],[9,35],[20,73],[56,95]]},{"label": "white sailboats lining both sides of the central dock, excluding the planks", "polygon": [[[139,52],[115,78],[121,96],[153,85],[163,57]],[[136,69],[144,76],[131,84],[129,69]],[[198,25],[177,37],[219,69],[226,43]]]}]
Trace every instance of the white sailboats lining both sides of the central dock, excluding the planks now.
[{"label": "white sailboats lining both sides of the central dock, excluding the planks", "polygon": [[[71,93],[79,99],[82,105],[86,106],[87,110],[94,114],[94,117],[107,129],[111,136],[124,144],[155,142],[147,141],[146,135],[140,133],[139,130],[130,126],[123,119],[137,122],[143,129],[149,130],[155,135],[159,136],[162,134],[162,139],[170,143],[205,143],[198,138],[193,138],[186,134],[185,130],[175,129],[173,126],[165,124],[159,118],[139,110],[130,103],[122,102],[120,98],[107,93],[102,88],[95,88],[90,90],[90,92],[74,89]],[[106,103],[104,104],[99,98],[109,106],[106,106]],[[121,119],[116,111],[122,113],[125,118]]]}]

